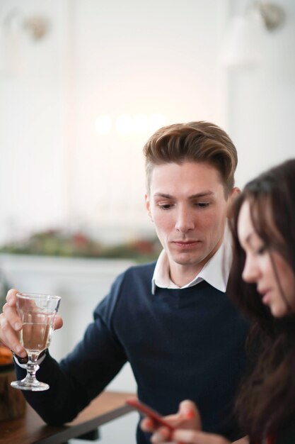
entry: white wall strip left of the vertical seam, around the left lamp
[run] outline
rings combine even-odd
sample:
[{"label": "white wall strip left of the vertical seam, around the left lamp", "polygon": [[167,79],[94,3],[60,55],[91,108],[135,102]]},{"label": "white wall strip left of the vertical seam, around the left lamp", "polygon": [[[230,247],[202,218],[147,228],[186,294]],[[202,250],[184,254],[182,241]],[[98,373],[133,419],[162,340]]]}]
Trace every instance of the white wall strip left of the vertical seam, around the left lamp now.
[{"label": "white wall strip left of the vertical seam, around the left lamp", "polygon": [[37,43],[22,33],[21,72],[7,74],[0,64],[1,240],[59,224],[66,212],[66,2],[56,1],[52,8],[49,0],[2,0],[2,32],[8,14],[14,11],[18,16],[29,16],[31,11],[45,14],[52,28]]}]

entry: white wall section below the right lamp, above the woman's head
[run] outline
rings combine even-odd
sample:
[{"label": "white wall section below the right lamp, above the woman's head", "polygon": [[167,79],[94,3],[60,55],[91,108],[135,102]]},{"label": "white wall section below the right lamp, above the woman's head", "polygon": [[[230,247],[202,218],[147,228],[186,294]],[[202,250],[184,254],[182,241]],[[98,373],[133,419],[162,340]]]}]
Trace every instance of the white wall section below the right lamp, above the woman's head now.
[{"label": "white wall section below the right lamp, above the woman's head", "polygon": [[[241,13],[245,3],[231,0],[232,13]],[[258,65],[227,69],[227,128],[238,148],[240,186],[295,157],[295,2],[275,3],[284,10],[284,24],[262,34]]]}]

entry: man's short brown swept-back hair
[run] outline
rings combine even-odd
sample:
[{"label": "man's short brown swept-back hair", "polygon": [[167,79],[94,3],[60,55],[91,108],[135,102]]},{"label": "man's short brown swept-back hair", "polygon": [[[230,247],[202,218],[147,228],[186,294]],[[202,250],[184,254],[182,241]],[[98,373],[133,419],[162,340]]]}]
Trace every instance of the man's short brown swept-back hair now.
[{"label": "man's short brown swept-back hair", "polygon": [[229,135],[214,123],[199,121],[164,126],[146,142],[144,156],[148,192],[154,166],[165,163],[204,162],[218,170],[226,196],[234,186],[236,147]]}]

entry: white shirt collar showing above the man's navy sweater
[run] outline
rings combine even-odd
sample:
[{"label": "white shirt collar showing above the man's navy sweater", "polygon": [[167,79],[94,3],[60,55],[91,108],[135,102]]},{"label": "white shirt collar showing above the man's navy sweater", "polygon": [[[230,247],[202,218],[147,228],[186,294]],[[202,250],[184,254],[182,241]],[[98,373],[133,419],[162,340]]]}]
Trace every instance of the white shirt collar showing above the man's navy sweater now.
[{"label": "white shirt collar showing above the man's navy sweater", "polygon": [[195,279],[192,279],[183,287],[178,287],[170,279],[170,267],[168,255],[165,250],[162,250],[154,271],[154,276],[151,280],[151,292],[155,293],[156,287],[160,288],[188,288],[199,284],[199,282],[206,281],[212,287],[218,289],[220,292],[226,292],[226,284],[229,279],[229,271],[231,269],[232,250],[231,238],[229,228],[226,226],[224,231],[224,240],[222,241],[216,253],[206,262],[202,270],[199,271]]}]

